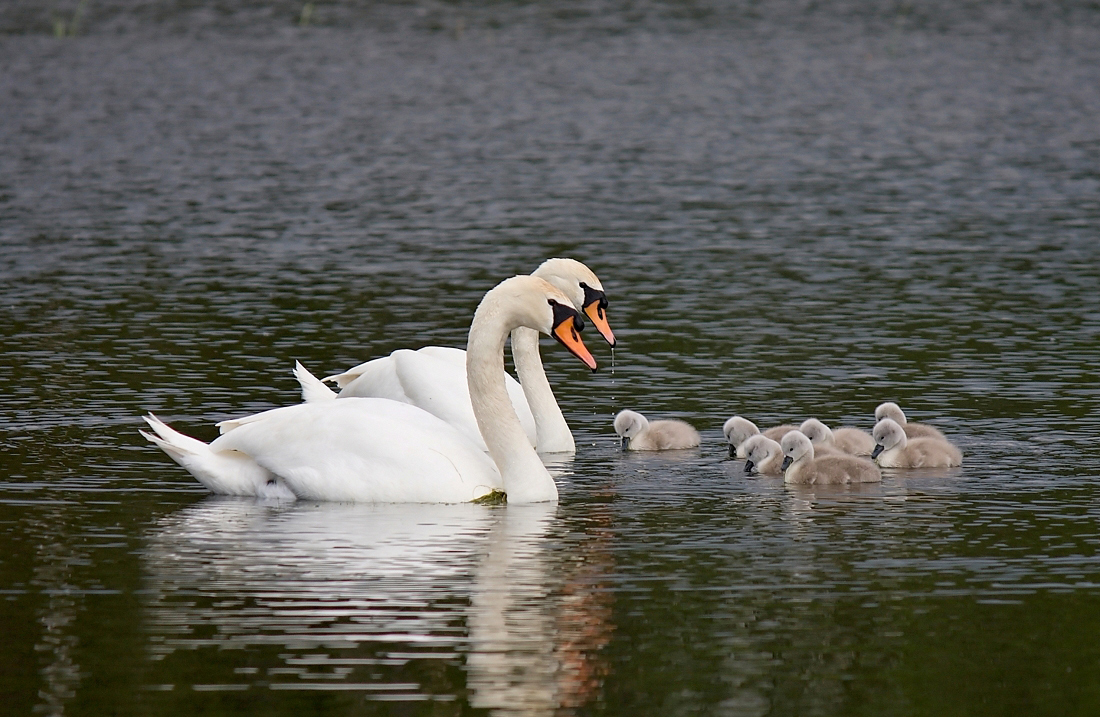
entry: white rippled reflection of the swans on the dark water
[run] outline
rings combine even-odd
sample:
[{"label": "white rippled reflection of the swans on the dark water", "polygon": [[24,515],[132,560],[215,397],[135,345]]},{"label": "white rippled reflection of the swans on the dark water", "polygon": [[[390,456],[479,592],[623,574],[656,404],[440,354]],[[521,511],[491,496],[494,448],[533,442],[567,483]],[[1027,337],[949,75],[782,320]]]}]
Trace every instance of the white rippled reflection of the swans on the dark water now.
[{"label": "white rippled reflection of the swans on the dark water", "polygon": [[211,497],[179,510],[143,555],[150,688],[465,698],[497,714],[585,704],[613,629],[610,593],[590,578],[610,559],[548,550],[556,509]]}]

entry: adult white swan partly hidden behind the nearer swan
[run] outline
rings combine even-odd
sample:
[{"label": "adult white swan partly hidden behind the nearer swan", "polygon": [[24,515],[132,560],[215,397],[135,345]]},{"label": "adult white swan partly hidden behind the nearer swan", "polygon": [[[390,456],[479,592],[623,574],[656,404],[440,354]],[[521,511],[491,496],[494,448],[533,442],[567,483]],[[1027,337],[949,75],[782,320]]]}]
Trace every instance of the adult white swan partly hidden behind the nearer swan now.
[{"label": "adult white swan partly hidden behind the nearer swan", "polygon": [[[607,297],[592,269],[571,258],[550,258],[531,276],[546,279],[561,289],[573,306],[592,320],[607,343],[615,345],[615,334],[607,323]],[[508,395],[531,444],[541,453],[572,453],[576,445],[547,380],[539,355],[538,332],[526,327],[513,331],[512,355],[519,383],[512,376],[507,377]],[[307,402],[374,396],[413,404],[454,426],[482,450],[487,450],[474,419],[465,372],[465,352],[446,346],[425,346],[416,351],[402,349],[323,378],[337,384],[339,395],[301,364],[297,364],[294,371],[301,384],[302,399]]]}]

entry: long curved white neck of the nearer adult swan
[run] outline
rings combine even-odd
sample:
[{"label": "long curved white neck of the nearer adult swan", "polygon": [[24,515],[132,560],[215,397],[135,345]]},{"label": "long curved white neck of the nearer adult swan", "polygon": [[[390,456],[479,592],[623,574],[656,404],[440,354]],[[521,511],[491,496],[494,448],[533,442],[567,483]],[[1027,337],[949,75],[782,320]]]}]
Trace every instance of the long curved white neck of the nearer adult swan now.
[{"label": "long curved white neck of the nearer adult swan", "polygon": [[517,323],[496,297],[486,295],[477,307],[466,343],[470,400],[508,503],[557,500],[558,487],[524,433],[504,384],[504,342]]}]

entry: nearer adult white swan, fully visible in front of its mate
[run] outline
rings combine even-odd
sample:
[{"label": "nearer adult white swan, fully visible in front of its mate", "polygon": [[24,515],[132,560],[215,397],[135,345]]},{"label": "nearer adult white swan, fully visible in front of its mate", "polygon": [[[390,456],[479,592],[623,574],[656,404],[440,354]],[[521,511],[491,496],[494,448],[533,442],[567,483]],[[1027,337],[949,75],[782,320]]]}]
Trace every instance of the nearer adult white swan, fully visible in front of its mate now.
[{"label": "nearer adult white swan, fully visible in front of its mate", "polygon": [[146,421],[156,435],[142,434],[211,490],[231,495],[258,495],[263,483],[312,500],[463,503],[494,490],[512,503],[554,500],[553,478],[504,386],[504,343],[521,326],[553,335],[596,367],[578,334],[580,313],[560,290],[531,276],[490,290],[466,345],[470,395],[490,456],[438,417],[384,398],[299,404],[226,421],[210,444],[154,417]]}]

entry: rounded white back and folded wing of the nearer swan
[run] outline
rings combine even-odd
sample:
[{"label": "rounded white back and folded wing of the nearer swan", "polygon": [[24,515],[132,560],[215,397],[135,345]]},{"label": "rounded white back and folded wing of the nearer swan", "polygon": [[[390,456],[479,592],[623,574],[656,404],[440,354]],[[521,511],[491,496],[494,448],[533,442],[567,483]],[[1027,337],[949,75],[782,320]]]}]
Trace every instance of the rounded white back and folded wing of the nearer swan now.
[{"label": "rounded white back and folded wing of the nearer swan", "polygon": [[210,449],[250,456],[299,498],[464,503],[502,487],[485,453],[415,406],[348,398],[251,418]]}]

